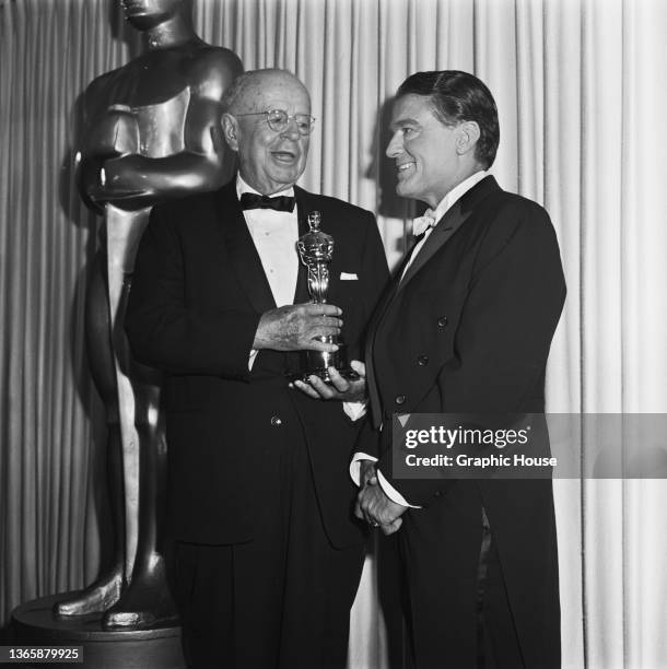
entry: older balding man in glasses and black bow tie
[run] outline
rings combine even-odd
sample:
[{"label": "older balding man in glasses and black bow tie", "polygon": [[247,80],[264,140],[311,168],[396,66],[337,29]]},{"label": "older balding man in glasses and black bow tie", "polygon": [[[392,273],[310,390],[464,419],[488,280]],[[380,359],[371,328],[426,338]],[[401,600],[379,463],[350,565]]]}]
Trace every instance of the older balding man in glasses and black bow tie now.
[{"label": "older balding man in glasses and black bow tie", "polygon": [[[302,350],[361,334],[388,278],[367,211],[295,185],[314,118],[304,85],[248,72],[223,99],[236,177],[153,209],[126,329],[167,374],[176,599],[195,667],[344,667],[363,560],[348,463],[363,379],[291,387]],[[319,211],[335,250],[329,303],[308,304],[296,240]]]}]

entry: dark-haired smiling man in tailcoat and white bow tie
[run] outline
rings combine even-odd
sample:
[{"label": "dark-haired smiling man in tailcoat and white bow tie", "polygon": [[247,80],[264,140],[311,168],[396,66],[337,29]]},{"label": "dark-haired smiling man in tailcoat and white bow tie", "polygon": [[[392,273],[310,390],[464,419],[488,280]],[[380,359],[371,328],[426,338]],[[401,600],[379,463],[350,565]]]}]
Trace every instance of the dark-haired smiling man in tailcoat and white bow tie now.
[{"label": "dark-haired smiling man in tailcoat and white bow tie", "polygon": [[[495,103],[476,77],[420,72],[399,87],[387,156],[397,192],[429,206],[367,336],[379,447],[354,456],[358,513],[398,531],[414,664],[560,666],[550,480],[393,476],[395,413],[540,413],[565,296],[547,212],[487,171]],[[396,473],[396,472],[394,472]]]}]

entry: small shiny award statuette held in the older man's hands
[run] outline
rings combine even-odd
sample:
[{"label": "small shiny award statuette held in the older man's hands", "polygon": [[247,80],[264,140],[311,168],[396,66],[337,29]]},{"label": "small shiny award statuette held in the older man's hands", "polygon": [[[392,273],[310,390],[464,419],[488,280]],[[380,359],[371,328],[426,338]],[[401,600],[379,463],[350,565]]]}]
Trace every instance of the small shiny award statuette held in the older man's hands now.
[{"label": "small shiny award statuette held in the older man's hands", "polygon": [[[329,263],[334,256],[334,237],[319,230],[321,214],[314,211],[308,214],[308,232],[299,238],[296,248],[301,261],[308,270],[308,293],[312,304],[326,304],[329,291]],[[301,371],[295,378],[307,382],[315,374],[325,383],[331,383],[329,367],[335,367],[347,379],[356,380],[359,374],[348,365],[347,347],[342,338],[328,334],[317,338],[326,343],[338,344],[338,351],[302,351]]]}]

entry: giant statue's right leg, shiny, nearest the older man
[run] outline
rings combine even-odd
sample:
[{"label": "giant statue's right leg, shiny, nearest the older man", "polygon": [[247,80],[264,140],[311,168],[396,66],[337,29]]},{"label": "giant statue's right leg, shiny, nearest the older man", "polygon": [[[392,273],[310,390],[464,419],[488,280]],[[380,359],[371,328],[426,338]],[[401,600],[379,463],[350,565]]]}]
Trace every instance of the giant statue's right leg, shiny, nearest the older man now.
[{"label": "giant statue's right leg, shiny, nearest the older man", "polygon": [[[166,485],[164,414],[160,407],[162,376],[157,371],[138,365],[132,360],[122,329],[134,255],[141,232],[148,222],[148,211],[109,212],[109,221],[112,218],[116,245],[119,248],[125,245],[126,249],[122,256],[122,285],[116,302],[113,341],[118,386],[122,389],[120,411],[125,412],[126,419],[132,419],[132,424],[127,429],[128,443],[124,445],[124,457],[127,460],[126,505],[129,493],[133,500],[130,504],[131,512],[133,514],[136,508],[137,515],[132,515],[136,523],[132,537],[136,550],[129,585],[116,605],[106,612],[104,625],[128,627],[174,620],[176,608],[167,586],[161,531],[165,516]],[[130,509],[127,513],[130,513]]]}]

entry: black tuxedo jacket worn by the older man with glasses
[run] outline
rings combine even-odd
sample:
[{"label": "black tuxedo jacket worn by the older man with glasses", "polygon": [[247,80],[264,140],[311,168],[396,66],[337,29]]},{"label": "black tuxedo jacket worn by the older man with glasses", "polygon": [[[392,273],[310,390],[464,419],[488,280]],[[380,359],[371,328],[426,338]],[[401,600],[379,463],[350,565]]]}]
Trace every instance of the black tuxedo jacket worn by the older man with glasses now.
[{"label": "black tuxedo jacket worn by the older man with glasses", "polygon": [[[334,236],[329,303],[342,308],[350,356],[361,357],[362,331],[388,278],[375,218],[297,187],[295,197],[300,234],[307,231],[307,214],[318,210],[321,228]],[[343,281],[341,272],[358,280]],[[295,303],[307,301],[301,266]],[[340,402],[288,387],[297,354],[262,350],[248,371],[259,318],[274,307],[234,180],[153,209],[138,250],[126,331],[136,357],[167,375],[168,505],[176,539],[215,544],[251,538],[258,508],[272,503],[262,497],[276,476],[267,455],[286,434],[307,444],[329,539],[338,547],[362,539],[350,513],[354,489],[348,474],[360,425]]]}]

